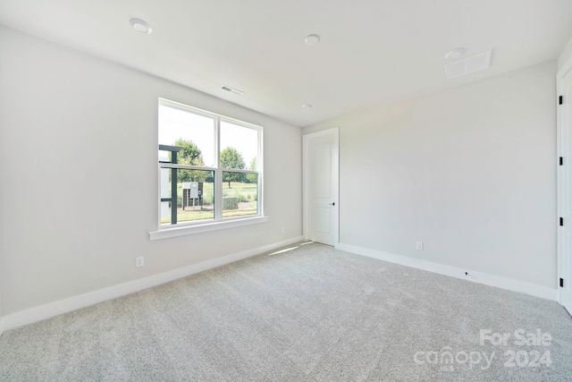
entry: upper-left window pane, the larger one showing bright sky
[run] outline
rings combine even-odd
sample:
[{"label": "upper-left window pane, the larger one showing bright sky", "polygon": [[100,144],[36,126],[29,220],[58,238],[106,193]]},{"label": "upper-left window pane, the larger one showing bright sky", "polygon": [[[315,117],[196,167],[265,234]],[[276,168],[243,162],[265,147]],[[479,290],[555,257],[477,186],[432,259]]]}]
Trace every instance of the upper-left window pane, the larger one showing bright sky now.
[{"label": "upper-left window pane, the larger one showing bright sky", "polygon": [[[159,105],[159,145],[182,148],[177,163],[214,167],[214,118]],[[159,150],[159,160],[172,160],[172,152]]]}]

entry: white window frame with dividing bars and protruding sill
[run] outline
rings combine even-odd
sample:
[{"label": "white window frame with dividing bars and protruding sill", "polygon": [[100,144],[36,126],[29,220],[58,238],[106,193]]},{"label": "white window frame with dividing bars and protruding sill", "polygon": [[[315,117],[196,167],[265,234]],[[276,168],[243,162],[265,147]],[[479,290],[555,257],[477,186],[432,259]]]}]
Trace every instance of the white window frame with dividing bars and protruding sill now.
[{"label": "white window frame with dividing bars and protruding sill", "polygon": [[[264,156],[263,156],[263,132],[262,126],[253,123],[247,123],[234,118],[230,118],[225,115],[218,115],[216,113],[211,113],[206,110],[198,109],[197,107],[183,105],[179,102],[174,102],[169,99],[159,98],[157,108],[159,106],[168,106],[173,108],[178,108],[182,111],[193,113],[195,115],[203,115],[214,119],[214,167],[206,166],[187,166],[187,165],[169,165],[161,164],[157,162],[157,230],[149,232],[150,240],[164,239],[168,237],[181,236],[185,234],[192,233],[204,233],[209,231],[215,231],[225,228],[231,228],[241,225],[253,225],[257,223],[264,223],[268,220],[268,216],[264,215]],[[253,129],[257,131],[258,136],[258,151],[257,151],[257,171],[252,170],[240,170],[234,168],[223,168],[220,163],[221,156],[221,145],[220,145],[220,132],[221,132],[221,122],[232,123],[245,127],[248,129]],[[158,129],[158,121],[157,121]],[[158,148],[158,136],[157,136],[157,148]],[[156,155],[156,154],[155,154]],[[182,222],[175,225],[161,225],[161,168],[181,168],[189,170],[204,170],[214,172],[214,219],[213,220],[201,220],[201,221],[191,221]],[[236,173],[245,174],[257,174],[258,175],[258,190],[257,190],[257,215],[248,216],[229,216],[223,217],[223,172],[231,171]]]}]

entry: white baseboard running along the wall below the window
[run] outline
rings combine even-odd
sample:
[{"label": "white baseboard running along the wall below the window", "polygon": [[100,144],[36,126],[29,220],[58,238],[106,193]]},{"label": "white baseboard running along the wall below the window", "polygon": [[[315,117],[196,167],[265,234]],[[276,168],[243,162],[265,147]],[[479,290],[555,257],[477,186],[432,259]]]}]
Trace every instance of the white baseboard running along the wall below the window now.
[{"label": "white baseboard running along the wall below the window", "polygon": [[160,273],[158,275],[139,278],[139,280],[133,280],[128,283],[110,286],[104,289],[80,294],[60,301],[49,302],[45,305],[40,305],[28,310],[17,311],[15,313],[8,314],[4,316],[4,318],[0,319],[0,334],[4,330],[10,330],[15,327],[22,327],[33,322],[41,321],[42,319],[51,318],[62,313],[67,313],[72,310],[78,310],[80,308],[94,305],[97,302],[111,300],[117,297],[121,297],[125,294],[139,292],[152,286],[165,284],[181,277],[190,276],[214,267],[221,267],[234,261],[247,259],[270,250],[276,250],[296,242],[302,242],[303,240],[303,236],[297,236],[282,242],[274,242],[272,244],[253,248],[251,250],[243,250],[241,252],[233,253],[222,258],[206,260],[188,267],[173,269],[172,271]]}]

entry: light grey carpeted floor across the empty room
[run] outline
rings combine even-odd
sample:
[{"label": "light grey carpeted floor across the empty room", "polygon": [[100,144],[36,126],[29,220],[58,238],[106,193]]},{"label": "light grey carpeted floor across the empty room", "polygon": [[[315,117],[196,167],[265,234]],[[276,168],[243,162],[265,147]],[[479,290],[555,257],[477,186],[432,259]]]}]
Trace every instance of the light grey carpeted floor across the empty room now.
[{"label": "light grey carpeted floor across the empty room", "polygon": [[572,318],[311,243],[5,332],[0,380],[566,381]]}]

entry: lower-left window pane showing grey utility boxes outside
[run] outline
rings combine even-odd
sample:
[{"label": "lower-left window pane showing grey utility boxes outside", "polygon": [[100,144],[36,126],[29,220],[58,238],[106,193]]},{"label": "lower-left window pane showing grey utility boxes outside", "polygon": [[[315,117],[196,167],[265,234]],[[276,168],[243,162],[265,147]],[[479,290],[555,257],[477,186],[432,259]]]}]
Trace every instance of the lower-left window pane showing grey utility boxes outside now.
[{"label": "lower-left window pane showing grey utility boxes outside", "polygon": [[[173,173],[177,176],[175,195],[172,195],[171,188]],[[213,182],[213,171],[162,168],[161,225],[214,219]],[[164,189],[168,190],[166,196]],[[172,206],[176,206],[176,221],[172,219]]]}]

